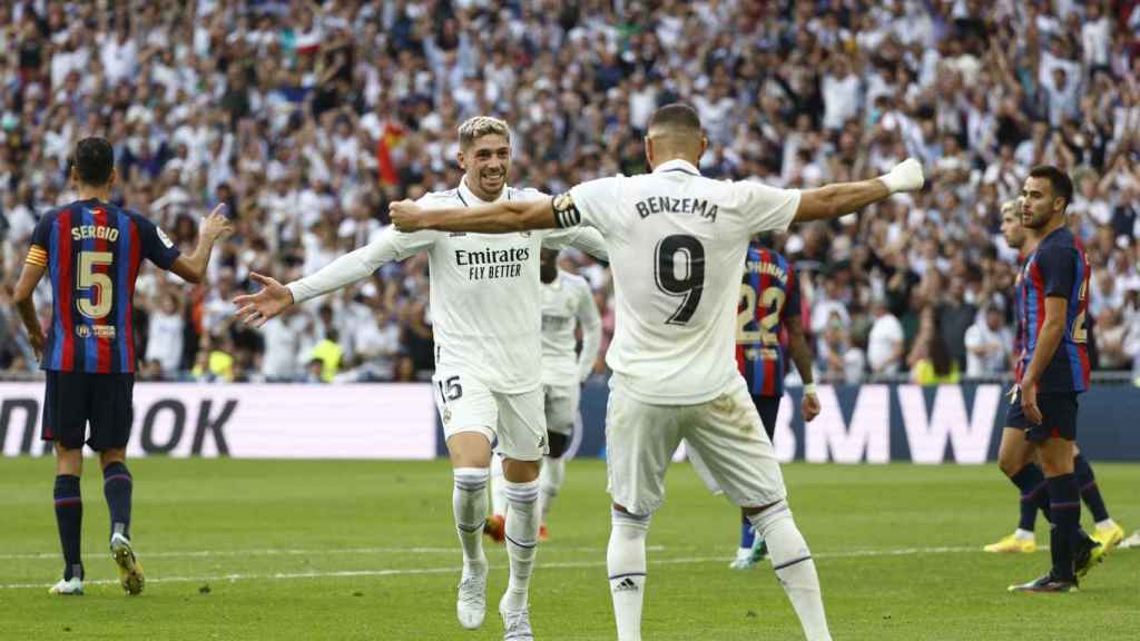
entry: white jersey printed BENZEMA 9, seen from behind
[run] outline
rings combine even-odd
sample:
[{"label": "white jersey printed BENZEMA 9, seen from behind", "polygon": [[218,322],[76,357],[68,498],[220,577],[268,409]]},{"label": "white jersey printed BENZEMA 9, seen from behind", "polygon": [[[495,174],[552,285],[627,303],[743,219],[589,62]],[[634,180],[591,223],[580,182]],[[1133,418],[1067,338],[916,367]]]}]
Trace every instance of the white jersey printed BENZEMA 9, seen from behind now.
[{"label": "white jersey printed BENZEMA 9, seen from behind", "polygon": [[705,178],[675,160],[653,173],[591,180],[554,200],[560,227],[605,238],[617,326],[606,364],[633,397],[695,405],[740,376],[736,305],[748,241],[784,230],[798,189]]}]

